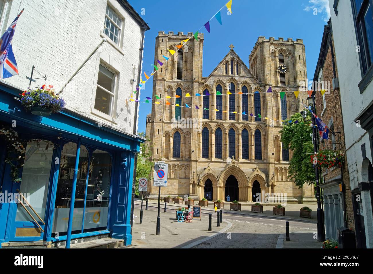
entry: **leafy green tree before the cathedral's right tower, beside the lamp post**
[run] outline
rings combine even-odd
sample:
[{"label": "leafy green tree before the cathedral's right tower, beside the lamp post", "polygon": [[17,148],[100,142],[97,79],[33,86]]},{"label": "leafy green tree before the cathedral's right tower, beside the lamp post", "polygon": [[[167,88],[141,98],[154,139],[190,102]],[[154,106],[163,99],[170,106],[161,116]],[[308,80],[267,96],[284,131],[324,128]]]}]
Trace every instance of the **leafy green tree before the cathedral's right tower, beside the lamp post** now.
[{"label": "leafy green tree before the cathedral's right tower, beside the lamp post", "polygon": [[[293,123],[286,123],[292,120]],[[298,123],[294,123],[298,120]],[[307,111],[306,120],[311,120],[311,113]],[[303,123],[303,124],[302,124]],[[281,142],[284,148],[290,148],[293,157],[289,164],[289,175],[295,180],[295,185],[303,187],[304,182],[315,180],[315,170],[310,161],[313,154],[312,127],[310,122],[304,123],[300,113],[295,113],[290,119],[283,123],[283,129],[280,130]],[[308,124],[308,125],[307,125]],[[308,183],[308,185],[313,184]]]}]

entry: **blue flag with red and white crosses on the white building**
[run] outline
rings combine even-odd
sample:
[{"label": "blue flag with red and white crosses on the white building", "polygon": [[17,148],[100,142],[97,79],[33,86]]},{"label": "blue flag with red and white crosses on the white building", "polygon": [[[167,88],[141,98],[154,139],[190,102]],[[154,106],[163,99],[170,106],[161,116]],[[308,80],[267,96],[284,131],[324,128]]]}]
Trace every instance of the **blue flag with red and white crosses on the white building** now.
[{"label": "blue flag with red and white crosses on the white building", "polygon": [[16,58],[13,54],[12,39],[16,29],[17,21],[24,9],[17,15],[0,38],[0,79],[18,75]]}]

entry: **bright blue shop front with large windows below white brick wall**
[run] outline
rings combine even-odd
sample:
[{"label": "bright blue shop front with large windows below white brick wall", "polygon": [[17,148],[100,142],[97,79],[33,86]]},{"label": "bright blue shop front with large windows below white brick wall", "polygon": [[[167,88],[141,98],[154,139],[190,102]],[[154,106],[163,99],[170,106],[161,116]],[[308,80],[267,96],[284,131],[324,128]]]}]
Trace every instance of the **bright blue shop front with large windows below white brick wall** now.
[{"label": "bright blue shop front with large windows below white brick wall", "polygon": [[[64,241],[73,207],[71,239],[108,234],[131,244],[134,161],[144,140],[68,111],[33,115],[17,97],[0,84],[0,243]],[[25,153],[17,170],[8,152],[18,139]]]}]

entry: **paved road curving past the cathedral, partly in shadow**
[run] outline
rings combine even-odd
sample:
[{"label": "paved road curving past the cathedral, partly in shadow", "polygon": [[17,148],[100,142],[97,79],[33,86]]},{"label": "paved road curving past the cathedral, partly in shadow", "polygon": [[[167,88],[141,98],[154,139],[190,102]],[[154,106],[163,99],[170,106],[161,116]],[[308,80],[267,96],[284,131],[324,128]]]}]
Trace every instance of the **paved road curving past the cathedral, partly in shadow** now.
[{"label": "paved road curving past the cathedral, partly in shadow", "polygon": [[[140,207],[135,204],[135,208]],[[162,207],[161,204],[161,212],[164,211]],[[152,205],[148,210],[157,211],[157,207]],[[170,208],[168,211],[171,210],[173,209]],[[208,215],[204,212],[202,214]],[[230,214],[227,211],[223,211],[223,218],[232,223],[231,229],[193,248],[275,248],[278,236],[286,232],[286,220],[282,219]],[[317,232],[317,225],[289,220],[289,230],[290,232]]]}]

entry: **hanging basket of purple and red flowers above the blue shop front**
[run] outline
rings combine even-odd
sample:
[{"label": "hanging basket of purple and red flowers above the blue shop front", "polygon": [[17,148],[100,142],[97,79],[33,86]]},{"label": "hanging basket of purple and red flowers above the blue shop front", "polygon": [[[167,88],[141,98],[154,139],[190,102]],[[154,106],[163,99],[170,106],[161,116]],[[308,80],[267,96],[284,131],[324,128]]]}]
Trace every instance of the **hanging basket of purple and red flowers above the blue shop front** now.
[{"label": "hanging basket of purple and red flowers above the blue shop front", "polygon": [[34,115],[49,116],[52,113],[62,111],[66,105],[65,100],[54,92],[51,85],[29,89],[19,95],[21,95],[19,100],[21,105]]}]

